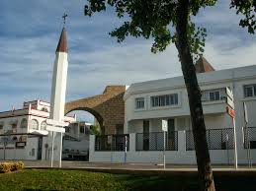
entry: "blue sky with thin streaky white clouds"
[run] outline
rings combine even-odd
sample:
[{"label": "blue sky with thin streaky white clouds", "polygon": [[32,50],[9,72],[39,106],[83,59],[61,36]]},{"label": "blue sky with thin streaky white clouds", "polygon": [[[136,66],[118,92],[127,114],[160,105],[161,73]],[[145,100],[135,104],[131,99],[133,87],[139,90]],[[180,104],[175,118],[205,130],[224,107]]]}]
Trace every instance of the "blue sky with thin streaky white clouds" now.
[{"label": "blue sky with thin streaky white clouds", "polygon": [[[238,27],[239,17],[219,0],[196,24],[208,29],[205,57],[216,70],[256,64],[256,36]],[[31,99],[49,100],[54,51],[68,14],[69,68],[66,99],[101,94],[107,85],[181,75],[177,50],[152,54],[151,40],[117,43],[108,32],[121,25],[108,10],[83,16],[85,0],[0,1],[0,110]],[[91,120],[91,118],[88,118]]]}]

